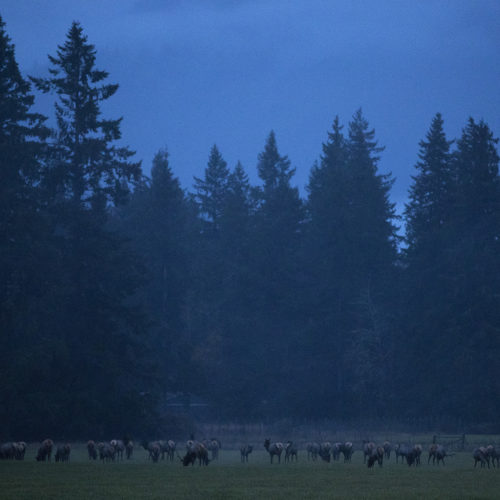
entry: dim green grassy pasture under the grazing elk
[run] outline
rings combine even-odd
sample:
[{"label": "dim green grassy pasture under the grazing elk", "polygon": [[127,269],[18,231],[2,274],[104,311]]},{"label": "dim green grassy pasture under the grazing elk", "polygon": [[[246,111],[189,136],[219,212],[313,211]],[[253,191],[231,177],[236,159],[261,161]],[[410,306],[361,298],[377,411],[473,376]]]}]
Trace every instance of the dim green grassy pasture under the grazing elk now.
[{"label": "dim green grassy pasture under the grazing elk", "polygon": [[221,451],[208,467],[153,464],[144,450],[131,461],[90,463],[85,446],[74,445],[70,463],[38,463],[35,445],[23,462],[0,461],[0,498],[5,499],[165,499],[165,498],[500,498],[500,470],[474,469],[470,452],[456,453],[446,466],[396,464],[394,456],[367,469],[362,452],[351,464],[307,461],[269,463],[264,450],[240,463],[238,451]]}]

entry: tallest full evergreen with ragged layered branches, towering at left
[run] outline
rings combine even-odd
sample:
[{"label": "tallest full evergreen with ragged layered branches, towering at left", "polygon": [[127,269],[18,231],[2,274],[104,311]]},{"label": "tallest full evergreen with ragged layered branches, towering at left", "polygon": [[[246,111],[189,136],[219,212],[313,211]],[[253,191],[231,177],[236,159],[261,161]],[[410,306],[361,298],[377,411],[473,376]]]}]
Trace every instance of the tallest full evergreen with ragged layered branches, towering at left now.
[{"label": "tallest full evergreen with ragged layered branches, towering at left", "polygon": [[[140,164],[129,162],[128,148],[114,144],[121,120],[101,117],[102,103],[118,86],[102,83],[108,74],[95,68],[95,48],[78,23],[49,60],[51,77],[32,78],[57,96],[57,131],[41,184],[57,249],[57,282],[46,299],[53,312],[38,325],[53,361],[37,390],[54,408],[46,432],[59,427],[82,435],[95,421],[125,431],[139,425],[140,394],[154,380],[145,380],[142,366],[144,316],[127,302],[142,269],[107,219],[109,206],[124,201],[128,182],[139,178]],[[58,391],[51,390],[55,380]]]}]

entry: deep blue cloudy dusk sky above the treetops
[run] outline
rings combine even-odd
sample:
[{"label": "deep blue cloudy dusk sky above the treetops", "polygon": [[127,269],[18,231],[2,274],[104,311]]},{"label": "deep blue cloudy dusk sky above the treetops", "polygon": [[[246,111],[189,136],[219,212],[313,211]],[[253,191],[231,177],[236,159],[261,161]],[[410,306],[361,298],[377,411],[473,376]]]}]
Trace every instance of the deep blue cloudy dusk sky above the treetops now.
[{"label": "deep blue cloudy dusk sky above the treetops", "polygon": [[[449,138],[469,116],[500,135],[499,1],[3,0],[0,14],[33,76],[79,21],[120,85],[104,115],[123,116],[146,173],[167,147],[186,189],[214,143],[257,183],[273,129],[305,195],[333,118],[347,125],[361,107],[401,209],[436,112]],[[37,106],[53,116],[51,99]]]}]

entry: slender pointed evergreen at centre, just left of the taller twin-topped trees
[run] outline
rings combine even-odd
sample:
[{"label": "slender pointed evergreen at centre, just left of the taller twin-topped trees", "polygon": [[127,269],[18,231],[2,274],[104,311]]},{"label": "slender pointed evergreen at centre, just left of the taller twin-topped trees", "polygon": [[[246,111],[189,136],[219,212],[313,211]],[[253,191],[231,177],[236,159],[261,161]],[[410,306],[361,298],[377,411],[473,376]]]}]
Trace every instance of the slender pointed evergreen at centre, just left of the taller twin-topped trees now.
[{"label": "slender pointed evergreen at centre, just left of the taller twin-topped trees", "polygon": [[[290,184],[295,169],[287,156],[279,154],[274,132],[258,156],[257,171],[262,186],[257,190],[252,260],[259,332],[253,361],[260,369],[249,390],[259,395],[254,408],[279,414],[282,409],[273,394],[280,392],[286,398],[293,392],[292,384],[280,381],[288,380],[296,364],[297,257],[304,212],[298,189]],[[267,403],[259,407],[260,401]]]}]

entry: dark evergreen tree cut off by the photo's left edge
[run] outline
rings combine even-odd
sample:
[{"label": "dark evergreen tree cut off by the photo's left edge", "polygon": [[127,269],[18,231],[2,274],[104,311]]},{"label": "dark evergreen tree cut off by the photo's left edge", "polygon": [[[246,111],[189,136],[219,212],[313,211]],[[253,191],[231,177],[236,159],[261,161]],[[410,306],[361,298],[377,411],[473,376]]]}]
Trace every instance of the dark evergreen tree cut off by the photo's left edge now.
[{"label": "dark evergreen tree cut off by the photo's left edge", "polygon": [[32,432],[26,424],[33,407],[26,395],[37,359],[40,297],[51,283],[51,247],[37,190],[48,130],[45,118],[31,111],[30,90],[0,17],[0,419],[5,435],[22,426]]}]

